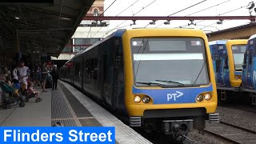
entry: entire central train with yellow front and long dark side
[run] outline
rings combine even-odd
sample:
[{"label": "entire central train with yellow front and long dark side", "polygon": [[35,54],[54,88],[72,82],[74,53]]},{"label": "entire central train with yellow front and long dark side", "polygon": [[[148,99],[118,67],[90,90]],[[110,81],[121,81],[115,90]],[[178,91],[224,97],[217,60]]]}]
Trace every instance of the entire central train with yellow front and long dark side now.
[{"label": "entire central train with yellow front and long dark side", "polygon": [[[60,68],[60,78],[126,118],[173,138],[218,122],[206,34],[191,29],[116,30]],[[184,139],[184,138],[183,138]]]}]

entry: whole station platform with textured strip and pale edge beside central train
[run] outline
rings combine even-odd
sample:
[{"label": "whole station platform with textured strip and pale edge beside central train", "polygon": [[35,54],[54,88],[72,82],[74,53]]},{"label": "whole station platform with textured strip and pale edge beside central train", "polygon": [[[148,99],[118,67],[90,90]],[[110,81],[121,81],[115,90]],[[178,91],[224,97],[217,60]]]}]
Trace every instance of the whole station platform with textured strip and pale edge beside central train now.
[{"label": "whole station platform with textured strip and pale edge beside central train", "polygon": [[37,90],[42,102],[30,98],[25,107],[0,108],[0,126],[114,126],[116,143],[151,143],[66,82],[58,81],[58,90]]}]

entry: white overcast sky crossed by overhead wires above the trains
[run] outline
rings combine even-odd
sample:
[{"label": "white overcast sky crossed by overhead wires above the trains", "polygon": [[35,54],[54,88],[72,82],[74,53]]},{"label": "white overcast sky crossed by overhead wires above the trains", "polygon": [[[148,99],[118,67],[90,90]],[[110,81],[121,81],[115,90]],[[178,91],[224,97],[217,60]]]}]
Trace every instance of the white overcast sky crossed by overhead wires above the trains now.
[{"label": "white overcast sky crossed by overhead wires above the trains", "polygon": [[[105,10],[114,1],[115,0],[105,0]],[[170,14],[174,14],[179,10],[185,9],[188,6],[192,6],[198,2],[201,2],[197,6],[193,6],[187,10],[183,10],[182,12],[174,14],[173,16],[187,16],[189,14],[190,16],[249,16],[250,13],[249,10],[246,9],[246,6],[248,6],[249,2],[253,2],[252,0],[206,0],[204,2],[202,1],[203,0],[116,0],[116,2],[114,2],[114,4],[110,6],[108,10],[105,11],[104,15],[117,16],[120,12],[122,12],[122,10],[125,10],[128,6],[135,2],[133,6],[130,6],[129,9],[125,10],[119,16],[133,16],[134,14],[134,16],[168,16]],[[213,7],[207,10],[203,10],[210,6]],[[193,14],[198,10],[203,11]],[[229,12],[231,10],[234,11]],[[255,15],[254,11],[252,15]],[[147,28],[153,28],[156,26],[158,26],[159,28],[177,28],[179,26],[182,26],[195,29],[203,28],[202,30],[204,30],[206,33],[209,33],[212,31],[223,30],[234,26],[245,25],[250,23],[250,20],[226,20],[223,21],[221,25],[216,23],[218,22],[217,20],[208,20],[202,22],[194,21],[194,23],[196,23],[196,26],[188,26],[188,23],[190,23],[190,21],[188,20],[171,21],[170,25],[164,25],[163,22],[165,21],[157,21],[155,25],[148,25],[149,22],[151,21],[136,21],[136,25],[130,26],[130,24],[133,23],[132,21],[110,21],[110,26],[108,26],[108,30],[116,30],[116,28],[132,29],[144,26],[146,26]]]}]

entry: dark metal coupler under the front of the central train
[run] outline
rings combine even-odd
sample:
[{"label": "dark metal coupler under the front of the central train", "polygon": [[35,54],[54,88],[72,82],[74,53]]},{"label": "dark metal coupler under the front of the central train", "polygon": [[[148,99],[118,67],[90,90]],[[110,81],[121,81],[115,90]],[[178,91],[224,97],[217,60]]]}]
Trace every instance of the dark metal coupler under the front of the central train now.
[{"label": "dark metal coupler under the front of the central train", "polygon": [[188,134],[193,126],[193,119],[166,120],[162,122],[165,134]]}]

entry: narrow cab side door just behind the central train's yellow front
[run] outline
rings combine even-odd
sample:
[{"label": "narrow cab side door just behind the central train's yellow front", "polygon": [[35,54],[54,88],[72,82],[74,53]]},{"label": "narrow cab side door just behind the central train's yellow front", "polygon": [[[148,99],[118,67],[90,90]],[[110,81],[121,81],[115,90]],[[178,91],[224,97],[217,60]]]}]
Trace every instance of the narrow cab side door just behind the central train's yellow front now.
[{"label": "narrow cab side door just behind the central train's yellow front", "polygon": [[121,38],[114,39],[114,86],[112,101],[116,109],[124,106],[124,71],[123,71],[123,51]]}]

